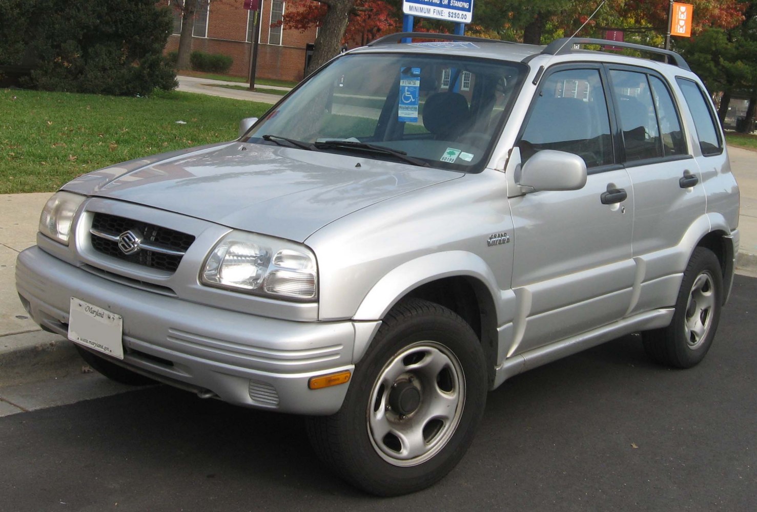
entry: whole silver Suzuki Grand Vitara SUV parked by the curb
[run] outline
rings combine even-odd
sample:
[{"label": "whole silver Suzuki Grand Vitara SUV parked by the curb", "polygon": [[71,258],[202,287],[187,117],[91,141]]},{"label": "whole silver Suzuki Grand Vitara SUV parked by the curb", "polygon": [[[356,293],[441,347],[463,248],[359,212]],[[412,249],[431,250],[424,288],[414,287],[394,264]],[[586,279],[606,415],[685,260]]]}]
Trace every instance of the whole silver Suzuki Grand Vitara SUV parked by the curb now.
[{"label": "whole silver Suzuki Grand Vitara SUV parked by the curb", "polygon": [[[578,49],[604,44],[667,62]],[[65,185],[17,288],[107,377],[306,414],[335,472],[398,495],[449,472],[522,371],[632,332],[701,361],[738,212],[678,54],[395,34],[236,141]]]}]

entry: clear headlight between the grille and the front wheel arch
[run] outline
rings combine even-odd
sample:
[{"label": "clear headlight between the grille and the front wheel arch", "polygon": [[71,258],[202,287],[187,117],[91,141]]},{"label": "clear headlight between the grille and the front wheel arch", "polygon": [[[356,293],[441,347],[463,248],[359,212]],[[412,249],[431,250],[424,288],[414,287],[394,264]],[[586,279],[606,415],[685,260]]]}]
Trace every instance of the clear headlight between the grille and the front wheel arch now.
[{"label": "clear headlight between the grille and the front wheel arch", "polygon": [[304,245],[232,231],[207,256],[200,281],[255,295],[314,300],[318,268],[316,256]]}]

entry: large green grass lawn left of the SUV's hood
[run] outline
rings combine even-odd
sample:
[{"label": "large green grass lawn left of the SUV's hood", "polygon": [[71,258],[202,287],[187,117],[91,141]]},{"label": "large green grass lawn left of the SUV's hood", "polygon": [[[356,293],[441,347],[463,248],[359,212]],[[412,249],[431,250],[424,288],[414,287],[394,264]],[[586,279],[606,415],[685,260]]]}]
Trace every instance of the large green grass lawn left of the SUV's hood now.
[{"label": "large green grass lawn left of the SUV's hood", "polygon": [[125,98],[0,89],[0,194],[55,191],[124,160],[229,141],[240,119],[269,108],[176,91]]}]

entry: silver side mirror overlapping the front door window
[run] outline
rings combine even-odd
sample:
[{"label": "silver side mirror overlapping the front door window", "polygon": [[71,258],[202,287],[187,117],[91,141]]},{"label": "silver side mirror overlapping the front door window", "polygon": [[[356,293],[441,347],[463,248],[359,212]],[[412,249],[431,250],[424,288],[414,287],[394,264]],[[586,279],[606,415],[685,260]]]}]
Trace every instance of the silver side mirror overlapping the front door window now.
[{"label": "silver side mirror overlapping the front door window", "polygon": [[520,169],[516,183],[532,191],[577,191],[586,185],[586,162],[565,151],[540,150]]}]

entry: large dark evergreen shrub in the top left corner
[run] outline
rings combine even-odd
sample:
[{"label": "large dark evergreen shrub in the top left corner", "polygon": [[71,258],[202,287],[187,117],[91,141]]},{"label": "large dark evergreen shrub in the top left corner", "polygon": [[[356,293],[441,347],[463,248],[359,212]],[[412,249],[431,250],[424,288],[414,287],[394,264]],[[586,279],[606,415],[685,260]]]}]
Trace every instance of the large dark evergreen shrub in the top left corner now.
[{"label": "large dark evergreen shrub in the top left corner", "polygon": [[23,27],[16,30],[23,30],[23,54],[0,61],[34,68],[23,86],[107,95],[176,87],[176,73],[163,56],[172,17],[154,0],[0,2],[0,15],[4,10],[25,14]]}]

